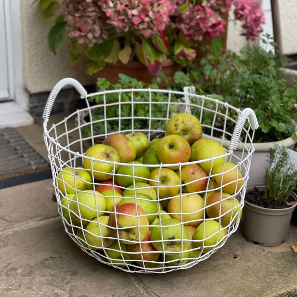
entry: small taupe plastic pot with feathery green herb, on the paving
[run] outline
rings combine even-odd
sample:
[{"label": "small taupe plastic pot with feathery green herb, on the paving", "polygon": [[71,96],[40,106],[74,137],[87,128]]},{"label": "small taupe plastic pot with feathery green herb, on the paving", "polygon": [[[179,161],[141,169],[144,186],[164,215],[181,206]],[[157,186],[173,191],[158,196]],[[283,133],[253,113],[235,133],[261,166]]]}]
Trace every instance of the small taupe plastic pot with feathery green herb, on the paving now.
[{"label": "small taupe plastic pot with feathery green herb, on the paving", "polygon": [[243,209],[243,233],[247,239],[266,246],[285,240],[297,205],[293,193],[296,184],[297,168],[288,150],[283,146],[270,149],[265,184],[247,188]]}]

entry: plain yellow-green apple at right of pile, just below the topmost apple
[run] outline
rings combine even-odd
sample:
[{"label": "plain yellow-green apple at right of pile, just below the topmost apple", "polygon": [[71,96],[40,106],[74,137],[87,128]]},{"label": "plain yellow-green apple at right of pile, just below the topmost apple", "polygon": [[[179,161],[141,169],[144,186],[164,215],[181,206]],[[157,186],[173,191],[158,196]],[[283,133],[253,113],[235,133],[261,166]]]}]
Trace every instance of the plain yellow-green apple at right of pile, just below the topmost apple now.
[{"label": "plain yellow-green apple at right of pile, just below the topmost apple", "polygon": [[[217,141],[202,138],[192,144],[190,161],[200,161],[209,159],[211,157],[219,157],[225,153],[227,153],[226,149],[224,149],[224,147],[221,146]],[[228,157],[226,157],[226,161],[228,161]],[[224,157],[213,160],[212,168],[223,162]],[[202,162],[198,165],[206,172],[207,175],[209,175],[211,161]]]}]

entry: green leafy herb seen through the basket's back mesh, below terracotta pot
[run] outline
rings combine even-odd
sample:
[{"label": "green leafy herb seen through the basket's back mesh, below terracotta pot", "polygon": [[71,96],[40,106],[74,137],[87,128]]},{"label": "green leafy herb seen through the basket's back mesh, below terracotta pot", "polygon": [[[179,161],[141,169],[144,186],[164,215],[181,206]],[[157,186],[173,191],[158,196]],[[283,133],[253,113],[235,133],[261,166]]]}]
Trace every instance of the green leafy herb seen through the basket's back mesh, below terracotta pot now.
[{"label": "green leafy herb seen through the basket's back mesh, below terracotta pot", "polygon": [[[119,83],[112,84],[105,78],[98,78],[97,86],[99,91],[107,91],[107,90],[119,90],[119,89],[145,89],[151,87],[152,89],[159,89],[158,85],[155,83],[146,84],[142,81],[138,81],[136,78],[131,78],[124,74],[119,74]],[[116,103],[119,102],[119,92],[106,94],[106,103]],[[94,102],[96,104],[102,104],[104,102],[103,95],[97,95],[89,98],[90,102]],[[119,113],[121,113],[121,130],[129,130],[132,127],[132,105],[125,104],[125,102],[132,101],[132,93],[131,92],[122,92],[121,93],[121,104],[111,105],[106,107],[106,117],[104,116],[104,107],[99,107],[96,109],[96,113],[93,114],[93,121],[97,120],[106,120],[107,129],[113,129],[114,131],[119,131],[119,120],[111,119],[117,118]],[[137,104],[137,102],[148,102],[149,101],[149,92],[134,92],[133,93],[133,117],[134,117],[134,129],[145,129],[149,126],[149,117],[151,118],[151,129],[157,129],[159,127],[164,126],[164,122],[159,120],[159,118],[167,118],[167,109],[168,109],[168,95],[163,93],[151,93],[151,101],[152,102],[165,102],[165,104],[152,104],[151,105],[151,116],[149,110],[149,104]],[[175,102],[176,97],[172,96],[171,101]],[[173,110],[174,107],[170,105],[170,111]],[[174,110],[176,111],[176,110]],[[129,119],[123,119],[124,117],[128,117]],[[137,118],[139,117],[139,119]],[[158,118],[158,119],[154,119]],[[105,121],[101,121],[95,123],[94,126],[99,129],[101,133],[105,132]],[[90,126],[85,126],[83,129],[83,135],[90,135]]]}]

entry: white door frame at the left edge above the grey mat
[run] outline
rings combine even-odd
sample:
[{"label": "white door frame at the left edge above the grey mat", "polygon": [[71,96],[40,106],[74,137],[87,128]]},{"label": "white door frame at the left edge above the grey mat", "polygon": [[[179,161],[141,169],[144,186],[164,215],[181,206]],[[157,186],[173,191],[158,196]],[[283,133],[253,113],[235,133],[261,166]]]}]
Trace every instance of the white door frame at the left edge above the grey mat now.
[{"label": "white door frame at the left edge above the grey mat", "polygon": [[20,0],[3,0],[7,36],[7,59],[9,93],[12,101],[0,103],[0,128],[20,127],[33,124],[28,113],[29,94],[23,87],[22,35]]}]

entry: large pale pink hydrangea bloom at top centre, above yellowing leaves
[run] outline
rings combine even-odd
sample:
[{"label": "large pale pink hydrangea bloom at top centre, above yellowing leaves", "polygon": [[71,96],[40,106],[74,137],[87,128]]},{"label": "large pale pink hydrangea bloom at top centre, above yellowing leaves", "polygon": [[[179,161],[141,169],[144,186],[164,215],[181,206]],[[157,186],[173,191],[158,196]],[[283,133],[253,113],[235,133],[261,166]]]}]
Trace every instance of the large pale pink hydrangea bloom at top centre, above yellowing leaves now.
[{"label": "large pale pink hydrangea bloom at top centre, above yellowing leaves", "polygon": [[100,0],[99,3],[107,22],[118,33],[130,29],[145,37],[164,31],[176,10],[175,1],[170,0]]}]

